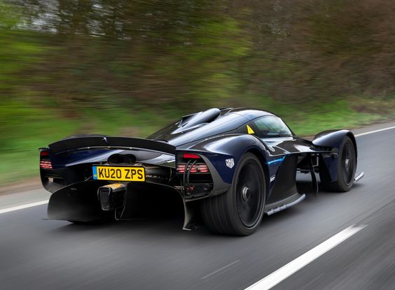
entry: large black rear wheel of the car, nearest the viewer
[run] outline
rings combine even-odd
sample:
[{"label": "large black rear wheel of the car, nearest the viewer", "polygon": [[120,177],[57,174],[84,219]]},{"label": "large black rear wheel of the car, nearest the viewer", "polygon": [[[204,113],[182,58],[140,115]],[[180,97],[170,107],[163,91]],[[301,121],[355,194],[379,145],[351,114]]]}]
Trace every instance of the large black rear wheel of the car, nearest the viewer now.
[{"label": "large black rear wheel of the car, nearest the viewer", "polygon": [[202,217],[207,228],[225,235],[251,235],[263,217],[265,207],[265,173],[258,158],[242,156],[230,189],[224,194],[202,201]]}]

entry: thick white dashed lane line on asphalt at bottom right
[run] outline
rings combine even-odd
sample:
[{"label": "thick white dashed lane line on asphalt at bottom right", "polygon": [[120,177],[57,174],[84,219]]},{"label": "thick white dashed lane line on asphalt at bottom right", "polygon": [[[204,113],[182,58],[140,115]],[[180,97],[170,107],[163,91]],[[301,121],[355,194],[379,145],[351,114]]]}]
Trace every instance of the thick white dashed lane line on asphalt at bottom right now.
[{"label": "thick white dashed lane line on asphalt at bottom right", "polygon": [[267,290],[275,287],[277,284],[279,284],[279,282],[282,282],[293,273],[296,273],[298,270],[311,263],[319,256],[322,256],[330,249],[333,249],[333,247],[339,245],[340,242],[343,242],[344,240],[347,240],[347,238],[358,233],[365,226],[366,225],[349,226],[347,229],[333,235],[332,238],[329,238],[325,242],[319,244],[317,247],[310,249],[310,251],[305,252],[305,254],[303,254],[302,256],[299,256],[295,260],[287,263],[286,265],[282,266],[282,268],[279,268],[275,272],[264,277],[262,280],[259,280],[255,284],[252,284],[245,290]]}]

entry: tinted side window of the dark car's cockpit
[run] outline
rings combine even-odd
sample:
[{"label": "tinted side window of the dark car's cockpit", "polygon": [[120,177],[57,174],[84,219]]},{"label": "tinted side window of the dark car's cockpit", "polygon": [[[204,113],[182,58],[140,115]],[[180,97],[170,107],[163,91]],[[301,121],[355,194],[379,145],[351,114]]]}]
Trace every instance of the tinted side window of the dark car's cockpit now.
[{"label": "tinted side window of the dark car's cockpit", "polygon": [[282,119],[276,116],[265,116],[252,120],[260,138],[291,137],[292,133]]}]

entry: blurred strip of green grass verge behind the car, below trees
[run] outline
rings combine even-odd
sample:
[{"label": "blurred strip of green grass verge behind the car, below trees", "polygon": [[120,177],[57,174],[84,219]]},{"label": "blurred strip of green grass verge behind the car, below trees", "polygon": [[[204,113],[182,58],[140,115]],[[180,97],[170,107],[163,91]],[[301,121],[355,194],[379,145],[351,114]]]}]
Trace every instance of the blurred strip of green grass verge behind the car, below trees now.
[{"label": "blurred strip of green grass verge behind the car, below trees", "polygon": [[[312,104],[284,104],[271,99],[254,107],[270,110],[282,117],[299,136],[314,135],[328,129],[350,129],[371,124],[384,117],[379,113],[360,113],[347,101]],[[11,102],[0,107],[0,184],[18,182],[39,175],[39,147],[77,133],[100,133],[145,137],[190,112],[164,109],[161,113],[137,108],[133,113],[122,108],[97,110],[82,108],[76,117],[65,117],[55,106],[34,108]]]}]

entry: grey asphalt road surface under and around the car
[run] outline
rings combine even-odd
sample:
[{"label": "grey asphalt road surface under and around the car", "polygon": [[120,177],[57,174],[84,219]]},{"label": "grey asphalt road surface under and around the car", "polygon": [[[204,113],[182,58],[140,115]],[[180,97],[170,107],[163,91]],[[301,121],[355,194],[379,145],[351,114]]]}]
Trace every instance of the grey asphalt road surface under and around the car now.
[{"label": "grey asphalt road surface under and around the car", "polygon": [[307,194],[244,238],[179,219],[78,226],[45,220],[46,205],[2,213],[0,289],[246,289],[352,225],[366,226],[273,289],[395,289],[395,129],[357,142],[352,191]]}]

